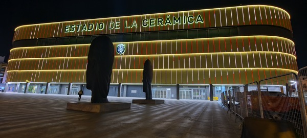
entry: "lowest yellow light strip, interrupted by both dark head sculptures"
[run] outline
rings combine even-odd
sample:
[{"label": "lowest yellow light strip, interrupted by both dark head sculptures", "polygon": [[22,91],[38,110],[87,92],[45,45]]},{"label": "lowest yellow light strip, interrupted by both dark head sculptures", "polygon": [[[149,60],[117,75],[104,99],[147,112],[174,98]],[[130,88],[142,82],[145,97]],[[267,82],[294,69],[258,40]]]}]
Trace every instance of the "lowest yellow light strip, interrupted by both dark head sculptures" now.
[{"label": "lowest yellow light strip, interrupted by both dark head sculptures", "polygon": [[[153,69],[153,71],[193,71],[193,70],[244,70],[244,69],[254,69],[254,70],[282,70],[282,71],[288,71],[288,72],[294,72],[298,73],[295,70],[290,70],[286,68],[260,68],[260,67],[254,67],[254,68],[161,68],[161,69]],[[143,69],[113,69],[113,71],[143,71]],[[10,72],[86,72],[86,70],[12,70],[12,71],[7,71],[8,73]]]}]

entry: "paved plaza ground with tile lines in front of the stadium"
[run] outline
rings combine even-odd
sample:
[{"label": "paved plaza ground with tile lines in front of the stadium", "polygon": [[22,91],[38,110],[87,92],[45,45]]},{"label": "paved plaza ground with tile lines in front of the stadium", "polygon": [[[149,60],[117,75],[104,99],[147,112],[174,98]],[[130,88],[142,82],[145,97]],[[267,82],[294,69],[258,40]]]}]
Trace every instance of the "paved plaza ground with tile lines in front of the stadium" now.
[{"label": "paved plaza ground with tile lines in front of the stadium", "polygon": [[[132,102],[108,97],[110,102]],[[82,96],[81,102],[91,101]],[[165,99],[130,109],[91,113],[67,110],[77,95],[0,93],[0,137],[240,137],[240,122],[218,101]],[[229,112],[230,113],[230,112]]]}]

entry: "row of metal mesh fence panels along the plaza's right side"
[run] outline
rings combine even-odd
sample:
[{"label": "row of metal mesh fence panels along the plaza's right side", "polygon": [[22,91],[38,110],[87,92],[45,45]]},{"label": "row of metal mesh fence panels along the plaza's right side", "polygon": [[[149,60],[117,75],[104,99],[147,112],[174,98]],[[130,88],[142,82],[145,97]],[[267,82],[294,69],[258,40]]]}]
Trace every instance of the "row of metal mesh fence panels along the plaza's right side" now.
[{"label": "row of metal mesh fence panels along the plaza's right side", "polygon": [[[246,117],[286,120],[299,137],[306,135],[307,67],[224,91],[224,107]],[[223,95],[222,94],[222,95]],[[236,118],[237,119],[237,118]]]}]

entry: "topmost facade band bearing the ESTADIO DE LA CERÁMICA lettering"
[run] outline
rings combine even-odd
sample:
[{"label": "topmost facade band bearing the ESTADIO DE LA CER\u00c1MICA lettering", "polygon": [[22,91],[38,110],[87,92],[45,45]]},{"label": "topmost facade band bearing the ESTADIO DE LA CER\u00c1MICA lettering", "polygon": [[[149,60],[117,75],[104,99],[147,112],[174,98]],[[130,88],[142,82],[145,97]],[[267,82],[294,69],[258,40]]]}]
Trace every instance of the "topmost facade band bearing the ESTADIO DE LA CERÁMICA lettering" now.
[{"label": "topmost facade band bearing the ESTADIO DE LA CER\u00c1MICA lettering", "polygon": [[[13,41],[36,38],[263,25],[261,11],[266,13],[267,9],[269,9],[267,14],[270,16],[266,16],[266,19],[271,20],[271,22],[268,21],[268,25],[292,30],[291,26],[284,24],[284,20],[290,19],[288,12],[273,6],[255,5],[26,25],[15,29],[16,33]],[[240,17],[241,14],[242,17]]]}]

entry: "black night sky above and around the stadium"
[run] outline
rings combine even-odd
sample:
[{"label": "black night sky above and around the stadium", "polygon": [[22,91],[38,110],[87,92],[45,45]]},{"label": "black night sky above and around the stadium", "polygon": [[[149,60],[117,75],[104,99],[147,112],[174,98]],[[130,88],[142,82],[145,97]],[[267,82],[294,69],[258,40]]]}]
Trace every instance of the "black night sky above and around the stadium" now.
[{"label": "black night sky above and around the stadium", "polygon": [[[8,1],[0,2],[1,32],[0,56],[5,56],[7,62],[12,47],[14,29],[21,25],[39,24],[55,21],[69,21],[80,19],[93,19],[103,17],[116,17],[125,15],[138,15],[149,13],[162,13],[184,10],[198,10],[208,8],[223,8],[242,5],[271,5],[282,8],[291,16],[293,28],[293,41],[297,54],[298,68],[307,66],[306,17],[307,1]],[[304,27],[305,26],[305,27]]]}]

